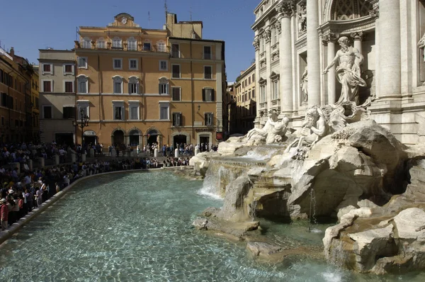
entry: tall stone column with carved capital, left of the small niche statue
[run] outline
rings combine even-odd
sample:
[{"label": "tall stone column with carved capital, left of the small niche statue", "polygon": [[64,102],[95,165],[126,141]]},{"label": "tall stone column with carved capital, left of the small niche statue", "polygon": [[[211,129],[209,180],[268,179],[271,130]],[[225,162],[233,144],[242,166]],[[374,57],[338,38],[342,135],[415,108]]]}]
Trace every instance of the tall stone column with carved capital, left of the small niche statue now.
[{"label": "tall stone column with carved capital, left of the small niche statue", "polygon": [[292,34],[290,18],[294,12],[293,1],[281,1],[276,6],[279,13],[280,36],[279,36],[279,60],[280,60],[280,111],[291,113],[293,111],[293,58],[292,58]]}]

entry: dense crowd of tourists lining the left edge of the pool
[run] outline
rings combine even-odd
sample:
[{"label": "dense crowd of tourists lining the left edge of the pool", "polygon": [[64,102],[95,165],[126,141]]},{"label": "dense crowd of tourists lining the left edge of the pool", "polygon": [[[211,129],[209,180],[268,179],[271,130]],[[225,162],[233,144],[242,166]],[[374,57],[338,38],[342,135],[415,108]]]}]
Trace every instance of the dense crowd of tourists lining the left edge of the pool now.
[{"label": "dense crowd of tourists lining the left edge of the pool", "polygon": [[[148,157],[132,159],[108,158],[106,160],[95,159],[94,162],[61,163],[40,169],[30,169],[27,163],[28,159],[49,158],[54,154],[63,155],[61,162],[67,162],[69,150],[83,152],[83,150],[89,149],[91,149],[91,145],[88,147],[77,145],[73,148],[55,143],[2,145],[0,158],[1,230],[6,230],[34,208],[39,208],[55,193],[81,177],[109,171],[185,166],[189,164],[190,158],[169,156],[163,162],[159,162],[157,158],[148,155]],[[96,150],[96,152],[98,151]],[[20,163],[20,169],[11,167],[12,162]]]}]

